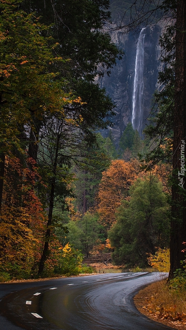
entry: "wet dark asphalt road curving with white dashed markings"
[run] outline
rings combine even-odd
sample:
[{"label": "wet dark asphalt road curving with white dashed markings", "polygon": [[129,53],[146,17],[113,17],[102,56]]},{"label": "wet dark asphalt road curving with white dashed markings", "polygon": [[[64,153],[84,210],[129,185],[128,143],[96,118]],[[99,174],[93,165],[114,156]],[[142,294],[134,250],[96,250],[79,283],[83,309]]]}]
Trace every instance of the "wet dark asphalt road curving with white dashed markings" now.
[{"label": "wet dark asphalt road curving with white dashed markings", "polygon": [[165,330],[133,303],[165,273],[115,273],[0,284],[1,330]]}]

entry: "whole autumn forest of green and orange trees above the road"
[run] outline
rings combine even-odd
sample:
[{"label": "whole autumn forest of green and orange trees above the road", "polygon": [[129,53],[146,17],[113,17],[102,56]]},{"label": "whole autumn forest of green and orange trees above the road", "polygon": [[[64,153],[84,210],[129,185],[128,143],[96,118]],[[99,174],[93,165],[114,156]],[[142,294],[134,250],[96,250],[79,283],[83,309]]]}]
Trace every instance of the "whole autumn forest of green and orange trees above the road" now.
[{"label": "whole autumn forest of green and orange trees above the road", "polygon": [[171,24],[149,125],[141,137],[129,122],[119,145],[100,134],[115,105],[99,82],[123,55],[104,29],[115,6],[0,2],[0,281],[91,273],[84,259],[104,253],[123,268],[184,272],[184,1],[122,5],[134,17],[118,28],[155,11]]}]

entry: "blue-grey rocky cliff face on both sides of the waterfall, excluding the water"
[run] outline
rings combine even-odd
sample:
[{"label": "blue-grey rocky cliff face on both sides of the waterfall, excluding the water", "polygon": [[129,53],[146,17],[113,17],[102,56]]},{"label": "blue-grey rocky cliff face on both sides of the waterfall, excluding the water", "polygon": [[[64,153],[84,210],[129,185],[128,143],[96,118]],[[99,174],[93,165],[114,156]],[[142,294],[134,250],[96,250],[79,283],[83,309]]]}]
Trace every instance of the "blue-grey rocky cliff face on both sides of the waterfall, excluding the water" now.
[{"label": "blue-grey rocky cliff face on both sides of the waterfall, excluding the water", "polygon": [[[124,34],[122,31],[111,32],[112,40],[124,50],[122,60],[117,62],[112,69],[110,77],[104,77],[101,85],[106,88],[112,97],[116,108],[116,116],[113,118],[114,127],[111,128],[116,143],[132,119],[132,94],[135,74],[135,59],[138,33]],[[154,91],[159,87],[157,84],[158,72],[161,69],[159,37],[161,34],[160,25],[152,25],[145,30],[144,38],[144,65],[143,65],[143,118],[142,126],[145,127],[149,115]],[[110,129],[110,128],[109,128]],[[106,136],[108,130],[103,132]]]}]

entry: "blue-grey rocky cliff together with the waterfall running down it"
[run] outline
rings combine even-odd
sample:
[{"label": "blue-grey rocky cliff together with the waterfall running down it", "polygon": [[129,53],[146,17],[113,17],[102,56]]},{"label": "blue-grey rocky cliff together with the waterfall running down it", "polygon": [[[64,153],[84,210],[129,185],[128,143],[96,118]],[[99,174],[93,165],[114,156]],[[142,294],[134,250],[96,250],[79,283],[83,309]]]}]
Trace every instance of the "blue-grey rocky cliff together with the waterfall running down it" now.
[{"label": "blue-grey rocky cliff together with the waterfall running down it", "polygon": [[159,38],[164,31],[164,23],[153,24],[146,29],[141,27],[136,33],[110,30],[112,41],[124,50],[124,55],[117,60],[111,74],[100,80],[100,86],[106,89],[115,104],[114,125],[101,134],[107,137],[111,130],[118,146],[129,122],[141,137],[143,129],[149,124],[154,91],[162,88],[158,82],[158,73],[163,70]]}]

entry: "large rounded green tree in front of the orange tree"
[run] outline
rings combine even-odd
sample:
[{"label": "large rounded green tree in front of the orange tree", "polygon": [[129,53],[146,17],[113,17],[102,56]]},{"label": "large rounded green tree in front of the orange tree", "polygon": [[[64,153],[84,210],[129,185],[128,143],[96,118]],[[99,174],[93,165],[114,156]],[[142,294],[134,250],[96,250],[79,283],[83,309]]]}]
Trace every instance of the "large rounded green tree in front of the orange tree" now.
[{"label": "large rounded green tree in front of the orange tree", "polygon": [[116,263],[147,265],[146,253],[168,246],[169,205],[157,179],[138,179],[130,188],[130,200],[124,200],[116,212],[116,223],[108,232],[115,247]]}]

